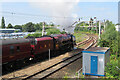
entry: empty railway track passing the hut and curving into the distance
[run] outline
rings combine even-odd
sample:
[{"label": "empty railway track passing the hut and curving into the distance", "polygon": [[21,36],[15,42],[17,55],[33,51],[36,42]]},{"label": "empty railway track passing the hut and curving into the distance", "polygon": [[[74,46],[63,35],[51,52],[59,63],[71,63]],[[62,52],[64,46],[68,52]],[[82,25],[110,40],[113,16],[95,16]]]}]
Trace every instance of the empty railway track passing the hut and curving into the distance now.
[{"label": "empty railway track passing the hut and curving into the distance", "polygon": [[[85,40],[82,43],[79,43],[79,45],[85,45],[85,47],[83,49],[88,49],[89,47],[92,47],[96,44],[96,38],[93,36],[89,36],[89,38],[87,40]],[[82,50],[81,50],[82,51]],[[26,75],[23,80],[26,79],[32,79],[32,78],[39,78],[39,79],[45,79],[46,77],[50,76],[51,74],[57,72],[58,70],[62,69],[63,67],[71,64],[72,62],[80,59],[82,57],[82,55],[80,54],[81,51],[73,56],[70,56],[66,59],[63,59],[62,61],[53,64],[43,70],[40,70],[39,72],[35,72],[32,75]],[[19,77],[13,77],[10,79],[16,79]]]}]

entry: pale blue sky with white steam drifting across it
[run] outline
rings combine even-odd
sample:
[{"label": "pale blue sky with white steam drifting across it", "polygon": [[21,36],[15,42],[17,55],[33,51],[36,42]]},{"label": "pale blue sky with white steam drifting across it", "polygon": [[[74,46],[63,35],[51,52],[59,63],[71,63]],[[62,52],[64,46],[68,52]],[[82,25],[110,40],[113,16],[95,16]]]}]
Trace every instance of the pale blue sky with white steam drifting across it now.
[{"label": "pale blue sky with white steam drifting across it", "polygon": [[[31,1],[31,2],[30,2]],[[65,2],[49,2],[49,0],[24,0],[22,2],[6,1],[0,2],[0,18],[4,16],[6,26],[22,25],[27,22],[53,22],[56,24],[72,24],[81,18],[81,21],[88,21],[91,17],[97,20],[110,20],[118,23],[118,2],[103,0],[104,2],[88,2],[87,0]],[[43,1],[43,2],[42,2]],[[44,2],[46,1],[46,2]],[[1,22],[1,19],[0,19]],[[68,26],[68,25],[66,25]]]}]

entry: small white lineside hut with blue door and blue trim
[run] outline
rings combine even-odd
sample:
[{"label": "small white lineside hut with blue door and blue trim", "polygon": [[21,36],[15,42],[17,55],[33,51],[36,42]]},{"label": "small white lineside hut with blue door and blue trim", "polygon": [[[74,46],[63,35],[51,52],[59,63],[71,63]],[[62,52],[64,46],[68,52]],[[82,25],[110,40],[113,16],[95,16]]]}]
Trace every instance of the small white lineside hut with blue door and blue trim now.
[{"label": "small white lineside hut with blue door and blue trim", "polygon": [[110,49],[107,47],[92,47],[82,51],[82,68],[84,75],[105,76],[105,65],[110,60]]}]

